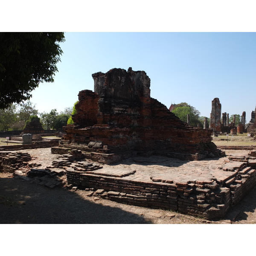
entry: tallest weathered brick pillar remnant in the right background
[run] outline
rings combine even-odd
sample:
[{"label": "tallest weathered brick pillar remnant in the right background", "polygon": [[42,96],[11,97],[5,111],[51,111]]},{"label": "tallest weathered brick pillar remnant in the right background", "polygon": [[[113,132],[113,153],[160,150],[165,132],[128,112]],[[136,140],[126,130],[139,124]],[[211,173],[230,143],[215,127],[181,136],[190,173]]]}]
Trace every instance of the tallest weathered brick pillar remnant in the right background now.
[{"label": "tallest weathered brick pillar remnant in the right background", "polygon": [[213,99],[212,101],[212,112],[210,116],[210,129],[213,132],[221,131],[221,103],[218,98]]}]

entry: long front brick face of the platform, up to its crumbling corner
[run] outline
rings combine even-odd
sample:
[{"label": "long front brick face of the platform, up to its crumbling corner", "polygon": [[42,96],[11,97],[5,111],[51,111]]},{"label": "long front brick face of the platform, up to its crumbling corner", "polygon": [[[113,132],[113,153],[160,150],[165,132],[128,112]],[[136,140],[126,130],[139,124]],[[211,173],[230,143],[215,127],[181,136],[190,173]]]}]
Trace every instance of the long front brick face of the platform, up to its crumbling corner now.
[{"label": "long front brick face of the platform, up to its crumbling corner", "polygon": [[[230,207],[230,189],[215,181],[195,183],[139,182],[67,170],[67,182],[76,186],[105,189],[106,198],[125,204],[171,209],[207,219],[222,217]],[[209,182],[208,182],[209,183]]]}]

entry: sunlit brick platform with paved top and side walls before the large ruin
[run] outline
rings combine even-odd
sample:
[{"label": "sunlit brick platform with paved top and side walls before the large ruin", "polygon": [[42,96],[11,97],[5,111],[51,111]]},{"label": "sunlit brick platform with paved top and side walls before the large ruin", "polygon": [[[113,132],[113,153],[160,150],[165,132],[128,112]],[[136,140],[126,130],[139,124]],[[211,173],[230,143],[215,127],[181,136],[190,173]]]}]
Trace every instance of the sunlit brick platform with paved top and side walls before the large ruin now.
[{"label": "sunlit brick platform with paved top and side walls before the large ruin", "polygon": [[223,217],[256,185],[256,161],[233,160],[212,160],[214,163],[211,160],[197,163],[174,160],[173,167],[168,167],[172,160],[163,160],[163,168],[158,163],[152,165],[150,171],[150,160],[145,158],[144,164],[148,168],[144,167],[142,171],[134,159],[127,162],[128,166],[125,163],[104,166],[100,172],[68,168],[67,182],[73,186],[104,189],[102,197],[120,203],[171,209],[214,219]]}]

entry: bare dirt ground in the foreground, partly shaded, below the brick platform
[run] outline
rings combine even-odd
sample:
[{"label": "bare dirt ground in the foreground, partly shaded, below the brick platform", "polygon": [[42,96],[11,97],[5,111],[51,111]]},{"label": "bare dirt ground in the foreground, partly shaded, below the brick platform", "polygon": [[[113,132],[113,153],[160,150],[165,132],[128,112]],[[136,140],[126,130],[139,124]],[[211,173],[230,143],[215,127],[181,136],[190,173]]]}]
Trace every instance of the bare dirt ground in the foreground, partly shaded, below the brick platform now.
[{"label": "bare dirt ground in the foreground, partly shaded, below the brick platform", "polygon": [[0,224],[255,224],[256,187],[221,220],[119,204],[0,174]]}]

